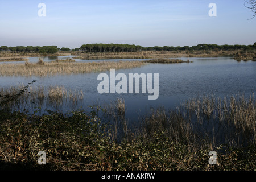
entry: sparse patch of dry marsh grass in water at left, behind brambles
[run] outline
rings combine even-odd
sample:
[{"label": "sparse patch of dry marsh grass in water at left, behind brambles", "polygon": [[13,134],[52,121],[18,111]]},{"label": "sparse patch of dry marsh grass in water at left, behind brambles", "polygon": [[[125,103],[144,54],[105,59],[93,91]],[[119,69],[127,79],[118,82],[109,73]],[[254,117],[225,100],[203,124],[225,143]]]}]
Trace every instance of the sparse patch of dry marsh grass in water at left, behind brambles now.
[{"label": "sparse patch of dry marsh grass in water at left, behind brambles", "polygon": [[[0,96],[15,96],[24,85],[10,86],[7,88],[0,88]],[[66,102],[69,105],[76,105],[77,102],[82,101],[84,94],[82,90],[67,90],[64,86],[51,85],[48,88],[44,86],[30,86],[23,96],[18,101],[9,101],[5,107],[11,110],[27,110],[30,105],[50,106],[54,108],[61,107]],[[5,98],[0,97],[0,102]]]}]

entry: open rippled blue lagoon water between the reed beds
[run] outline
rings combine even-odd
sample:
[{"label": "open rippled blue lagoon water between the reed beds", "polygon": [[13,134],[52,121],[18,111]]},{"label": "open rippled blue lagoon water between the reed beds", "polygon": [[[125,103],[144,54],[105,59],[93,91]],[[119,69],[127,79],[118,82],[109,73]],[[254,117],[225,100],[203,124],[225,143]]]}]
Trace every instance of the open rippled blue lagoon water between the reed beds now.
[{"label": "open rippled blue lagoon water between the reed beds", "polygon": [[[65,59],[73,56],[60,56]],[[44,57],[44,61],[52,61],[57,57]],[[181,58],[187,60],[188,58]],[[119,60],[79,60],[76,61],[119,61]],[[84,100],[71,108],[68,105],[60,106],[61,111],[71,109],[88,108],[89,105],[102,105],[123,97],[126,105],[126,117],[135,119],[138,114],[143,115],[150,107],[164,106],[166,109],[174,109],[184,100],[204,94],[213,94],[216,97],[225,97],[242,93],[245,97],[256,91],[256,62],[236,61],[231,57],[206,57],[189,58],[193,63],[177,64],[148,64],[140,68],[119,69],[118,73],[159,73],[159,97],[157,100],[148,100],[146,94],[100,94],[97,86],[101,81],[97,80],[100,73],[86,73],[78,75],[58,75],[49,77],[0,77],[1,86],[26,85],[32,80],[37,80],[33,86],[61,85],[67,89],[82,90]],[[30,62],[38,61],[38,57],[30,57]],[[126,60],[133,61],[133,60]],[[20,63],[15,62],[15,63]],[[22,63],[22,62],[21,62]],[[3,64],[3,63],[2,63]],[[6,63],[4,63],[6,64]],[[117,84],[118,81],[115,83]]]}]

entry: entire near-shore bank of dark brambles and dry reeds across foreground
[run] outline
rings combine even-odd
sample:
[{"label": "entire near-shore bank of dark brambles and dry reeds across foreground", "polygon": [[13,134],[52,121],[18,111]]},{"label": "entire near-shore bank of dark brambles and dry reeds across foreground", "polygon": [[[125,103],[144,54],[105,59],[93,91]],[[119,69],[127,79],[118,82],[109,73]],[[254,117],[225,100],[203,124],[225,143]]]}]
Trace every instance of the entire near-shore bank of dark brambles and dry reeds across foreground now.
[{"label": "entire near-shore bank of dark brambles and dry reeds across foreground", "polygon": [[[253,171],[255,106],[253,95],[205,96],[175,110],[152,109],[139,125],[127,127],[124,100],[109,109],[94,106],[93,111],[48,111],[41,116],[10,113],[1,102],[0,168]],[[98,111],[117,119],[105,123]],[[117,142],[118,131],[122,138]],[[212,150],[217,165],[208,163]],[[46,152],[46,165],[38,164],[39,151]]]}]

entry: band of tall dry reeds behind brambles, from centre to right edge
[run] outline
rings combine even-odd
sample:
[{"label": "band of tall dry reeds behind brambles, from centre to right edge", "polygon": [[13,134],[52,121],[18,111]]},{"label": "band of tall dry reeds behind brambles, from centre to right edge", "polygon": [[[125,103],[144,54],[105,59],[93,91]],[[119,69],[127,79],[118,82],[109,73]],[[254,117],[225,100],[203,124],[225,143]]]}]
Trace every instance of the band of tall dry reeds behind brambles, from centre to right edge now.
[{"label": "band of tall dry reeds behind brambles, from centre to right edge", "polygon": [[242,147],[256,143],[256,102],[254,93],[230,97],[202,96],[184,101],[176,109],[151,107],[139,120],[125,117],[125,100],[117,98],[104,105],[104,121],[113,126],[112,139],[133,141],[143,136],[151,142],[156,132],[172,143],[183,143],[196,151],[225,144]]}]

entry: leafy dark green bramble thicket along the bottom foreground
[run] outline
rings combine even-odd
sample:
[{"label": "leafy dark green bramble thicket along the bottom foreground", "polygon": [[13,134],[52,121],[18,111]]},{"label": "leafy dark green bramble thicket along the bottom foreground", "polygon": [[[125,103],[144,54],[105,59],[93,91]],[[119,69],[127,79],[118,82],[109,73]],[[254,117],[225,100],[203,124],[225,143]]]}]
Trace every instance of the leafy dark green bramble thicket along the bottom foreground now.
[{"label": "leafy dark green bramble thicket along the bottom foreground", "polygon": [[[46,152],[51,170],[254,170],[255,144],[245,148],[221,146],[217,165],[209,165],[210,148],[188,152],[183,143],[171,142],[162,131],[151,140],[110,140],[109,128],[92,113],[78,110],[64,115],[49,111],[38,117],[3,113],[0,122],[1,161],[38,169],[39,151]],[[5,157],[3,157],[5,156]],[[5,168],[5,166],[1,166]]]}]

